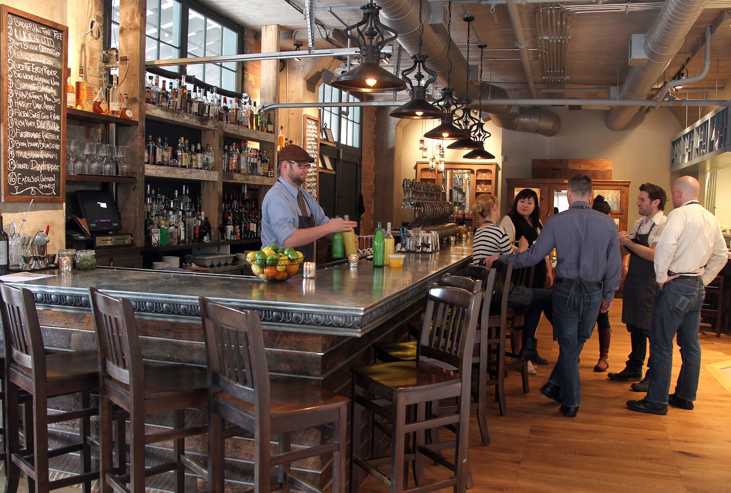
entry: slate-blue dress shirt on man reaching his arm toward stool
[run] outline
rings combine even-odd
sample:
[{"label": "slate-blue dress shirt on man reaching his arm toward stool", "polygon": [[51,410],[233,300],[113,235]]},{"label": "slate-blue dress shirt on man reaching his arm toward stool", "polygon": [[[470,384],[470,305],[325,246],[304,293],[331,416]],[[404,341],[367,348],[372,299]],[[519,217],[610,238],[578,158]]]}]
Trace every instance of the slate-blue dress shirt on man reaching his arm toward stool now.
[{"label": "slate-blue dress shirt on man reaching his arm toward stool", "polygon": [[556,249],[556,276],[602,281],[602,298],[614,299],[622,275],[619,236],[614,219],[577,200],[561,214],[551,216],[536,242],[525,252],[501,255],[515,268],[534,266]]}]

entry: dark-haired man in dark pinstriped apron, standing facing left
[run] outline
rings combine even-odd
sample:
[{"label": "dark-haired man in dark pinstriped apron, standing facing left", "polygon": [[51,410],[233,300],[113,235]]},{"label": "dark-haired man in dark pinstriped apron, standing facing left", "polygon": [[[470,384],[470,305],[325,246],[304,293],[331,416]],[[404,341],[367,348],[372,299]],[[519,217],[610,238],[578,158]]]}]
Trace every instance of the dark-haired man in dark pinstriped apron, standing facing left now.
[{"label": "dark-haired man in dark pinstriped apron, standing facing left", "polygon": [[610,380],[634,380],[637,383],[632,384],[632,391],[635,392],[647,392],[648,389],[650,369],[643,378],[643,365],[658,293],[653,261],[655,245],[667,220],[662,212],[666,200],[667,195],[661,187],[651,183],[640,185],[637,209],[643,217],[637,219],[631,233],[619,232],[622,255],[629,255],[622,294],[622,322],[627,325],[632,352],[625,368],[607,377]]}]

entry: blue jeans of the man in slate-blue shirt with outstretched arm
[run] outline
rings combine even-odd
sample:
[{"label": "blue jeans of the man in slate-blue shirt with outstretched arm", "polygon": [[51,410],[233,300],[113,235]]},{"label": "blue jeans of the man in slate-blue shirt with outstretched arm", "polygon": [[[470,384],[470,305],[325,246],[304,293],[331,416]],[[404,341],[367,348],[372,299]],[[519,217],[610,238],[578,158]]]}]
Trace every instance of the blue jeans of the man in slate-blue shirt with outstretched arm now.
[{"label": "blue jeans of the man in slate-blue shirt with outstretched arm", "polygon": [[602,306],[601,287],[575,287],[564,283],[553,286],[553,333],[558,340],[558,361],[548,381],[561,387],[561,403],[567,407],[581,404],[578,358]]}]

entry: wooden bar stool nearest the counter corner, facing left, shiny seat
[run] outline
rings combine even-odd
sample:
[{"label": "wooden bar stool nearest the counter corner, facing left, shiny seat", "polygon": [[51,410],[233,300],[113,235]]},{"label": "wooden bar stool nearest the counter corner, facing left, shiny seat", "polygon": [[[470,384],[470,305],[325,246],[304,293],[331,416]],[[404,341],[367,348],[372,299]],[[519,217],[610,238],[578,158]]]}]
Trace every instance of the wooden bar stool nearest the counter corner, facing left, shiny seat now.
[{"label": "wooden bar stool nearest the counter corner, facing left, shiny seat", "polygon": [[[465,491],[469,475],[471,357],[480,298],[480,293],[458,287],[431,288],[417,361],[377,363],[352,369],[352,492],[357,492],[360,483],[355,467],[389,485],[392,493],[428,492],[448,486],[453,486],[457,493]],[[440,366],[426,362],[425,358]],[[457,412],[427,414],[429,404],[440,399],[457,399]],[[381,420],[379,428],[387,430],[392,440],[390,457],[361,456],[362,413],[355,404],[373,413],[374,419]],[[456,428],[454,441],[425,444],[426,430],[449,425]],[[412,435],[413,447],[407,454],[406,444]],[[453,461],[442,454],[442,449],[447,447],[455,449]],[[453,475],[425,484],[423,456],[446,467]],[[413,489],[406,488],[407,461],[413,462],[417,483]],[[390,464],[390,476],[376,469],[379,464]]]}]

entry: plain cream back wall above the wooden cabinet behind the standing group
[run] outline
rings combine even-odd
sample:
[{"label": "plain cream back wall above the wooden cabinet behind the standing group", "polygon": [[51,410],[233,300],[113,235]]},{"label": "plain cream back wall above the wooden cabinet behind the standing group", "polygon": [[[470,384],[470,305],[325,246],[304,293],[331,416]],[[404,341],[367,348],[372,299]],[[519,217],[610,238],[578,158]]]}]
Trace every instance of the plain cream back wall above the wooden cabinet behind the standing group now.
[{"label": "plain cream back wall above the wooden cabinet behind the standing group", "polygon": [[[553,110],[561,117],[561,131],[553,137],[502,132],[503,178],[530,178],[531,159],[612,159],[613,179],[632,181],[629,224],[639,217],[635,198],[640,184],[649,181],[670,194],[670,142],[683,127],[667,108],[651,111],[642,124],[621,132],[607,129],[606,111]],[[666,212],[672,208],[670,202]]]}]

